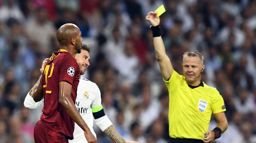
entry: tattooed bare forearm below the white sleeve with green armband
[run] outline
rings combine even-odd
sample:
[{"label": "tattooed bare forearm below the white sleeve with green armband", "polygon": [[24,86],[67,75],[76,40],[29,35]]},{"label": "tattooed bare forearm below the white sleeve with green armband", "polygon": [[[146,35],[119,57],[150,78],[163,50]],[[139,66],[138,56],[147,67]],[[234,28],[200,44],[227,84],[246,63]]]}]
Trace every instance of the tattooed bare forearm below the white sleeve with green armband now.
[{"label": "tattooed bare forearm below the white sleeve with green armband", "polygon": [[117,130],[113,125],[106,128],[104,133],[115,143],[126,143],[126,141],[117,133]]}]

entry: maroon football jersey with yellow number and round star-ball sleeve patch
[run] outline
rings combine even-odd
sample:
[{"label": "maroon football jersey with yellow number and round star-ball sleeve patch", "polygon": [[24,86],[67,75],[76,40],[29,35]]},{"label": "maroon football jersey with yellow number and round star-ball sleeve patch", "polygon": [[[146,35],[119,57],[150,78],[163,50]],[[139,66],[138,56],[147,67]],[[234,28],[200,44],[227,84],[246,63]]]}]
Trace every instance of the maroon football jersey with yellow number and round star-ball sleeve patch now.
[{"label": "maroon football jersey with yellow number and round star-ball sleeve patch", "polygon": [[44,98],[41,120],[51,130],[73,139],[74,121],[59,103],[59,82],[65,81],[72,85],[70,96],[75,103],[80,69],[76,59],[65,51],[61,49],[59,52],[53,52],[43,71],[40,81],[43,85]]}]

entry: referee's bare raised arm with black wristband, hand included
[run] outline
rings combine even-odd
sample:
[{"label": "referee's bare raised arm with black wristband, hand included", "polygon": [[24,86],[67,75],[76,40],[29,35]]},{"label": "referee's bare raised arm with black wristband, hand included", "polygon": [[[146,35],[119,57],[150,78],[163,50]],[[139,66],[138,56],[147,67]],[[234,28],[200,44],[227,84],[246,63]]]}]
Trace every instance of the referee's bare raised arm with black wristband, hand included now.
[{"label": "referee's bare raised arm with black wristband, hand included", "polygon": [[171,77],[173,67],[169,57],[165,53],[165,46],[163,44],[163,39],[161,37],[160,31],[160,19],[156,15],[157,12],[149,12],[146,16],[146,20],[150,21],[151,29],[153,32],[153,43],[156,52],[156,59],[159,63],[161,74],[165,80]]}]

